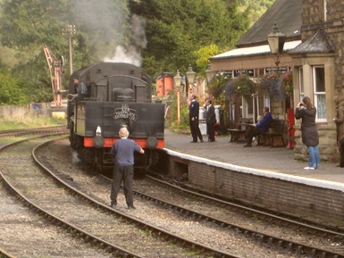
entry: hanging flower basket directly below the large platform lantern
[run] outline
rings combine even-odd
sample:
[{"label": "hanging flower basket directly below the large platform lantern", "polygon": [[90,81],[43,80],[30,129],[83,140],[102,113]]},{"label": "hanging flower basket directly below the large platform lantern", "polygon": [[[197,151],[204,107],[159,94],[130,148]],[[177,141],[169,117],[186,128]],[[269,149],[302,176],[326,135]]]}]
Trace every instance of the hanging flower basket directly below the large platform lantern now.
[{"label": "hanging flower basket directly below the large platform lantern", "polygon": [[293,96],[292,72],[268,72],[259,79],[264,93],[272,99],[283,100]]}]

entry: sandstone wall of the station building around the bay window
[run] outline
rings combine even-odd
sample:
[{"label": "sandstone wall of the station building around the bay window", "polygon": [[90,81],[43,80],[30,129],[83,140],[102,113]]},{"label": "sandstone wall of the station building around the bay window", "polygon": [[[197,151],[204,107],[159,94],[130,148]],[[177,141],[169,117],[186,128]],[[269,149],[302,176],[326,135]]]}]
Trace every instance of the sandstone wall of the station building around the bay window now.
[{"label": "sandstone wall of the station building around the bay window", "polygon": [[[325,2],[324,2],[325,1]],[[324,3],[326,6],[324,8]],[[325,13],[326,10],[327,12]],[[337,131],[332,119],[335,116],[335,107],[332,102],[332,96],[344,94],[344,1],[338,0],[303,0],[303,15],[301,37],[303,40],[315,35],[318,29],[323,29],[326,36],[330,39],[335,49],[334,55],[329,54],[329,60],[333,67],[325,71],[327,79],[326,84],[326,108],[327,124],[318,125],[320,137],[320,154],[323,161],[337,162],[339,160],[339,151],[336,144]],[[322,64],[320,62],[319,64]],[[331,65],[329,66],[331,67]],[[330,97],[331,96],[331,97]],[[300,126],[297,124],[296,129],[296,147],[295,157],[297,159],[307,160],[306,146],[302,145]]]}]

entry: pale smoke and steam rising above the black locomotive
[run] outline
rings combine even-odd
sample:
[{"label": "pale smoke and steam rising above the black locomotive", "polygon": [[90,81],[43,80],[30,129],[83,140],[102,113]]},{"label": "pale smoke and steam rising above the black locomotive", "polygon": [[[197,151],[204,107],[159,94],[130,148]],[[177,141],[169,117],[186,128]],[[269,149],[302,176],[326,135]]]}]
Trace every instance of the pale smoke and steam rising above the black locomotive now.
[{"label": "pale smoke and steam rising above the black locomotive", "polygon": [[[130,32],[123,31],[128,21],[128,10],[122,0],[71,0],[76,27],[86,30],[94,37],[87,44],[95,49],[105,62],[130,62],[141,66],[141,50],[147,46],[146,22],[133,15],[130,17]],[[78,24],[79,23],[79,24]],[[123,34],[129,34],[130,46],[121,46]]]}]

